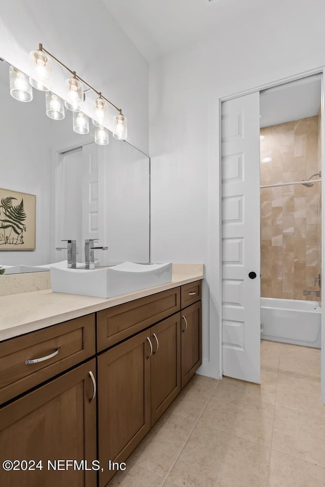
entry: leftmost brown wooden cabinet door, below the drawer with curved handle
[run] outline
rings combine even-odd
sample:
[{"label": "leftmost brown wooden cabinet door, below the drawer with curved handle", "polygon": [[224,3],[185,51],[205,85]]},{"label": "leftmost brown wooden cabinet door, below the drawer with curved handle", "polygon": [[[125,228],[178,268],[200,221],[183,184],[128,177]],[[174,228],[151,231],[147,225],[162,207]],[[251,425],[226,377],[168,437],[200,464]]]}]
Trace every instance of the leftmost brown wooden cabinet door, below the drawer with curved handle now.
[{"label": "leftmost brown wooden cabinet door, below the drawer with curved handle", "polygon": [[6,487],[95,487],[96,472],[48,468],[47,461],[96,459],[95,360],[0,410],[0,460],[42,461],[43,469],[0,469]]}]

